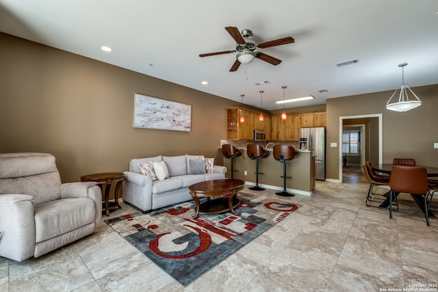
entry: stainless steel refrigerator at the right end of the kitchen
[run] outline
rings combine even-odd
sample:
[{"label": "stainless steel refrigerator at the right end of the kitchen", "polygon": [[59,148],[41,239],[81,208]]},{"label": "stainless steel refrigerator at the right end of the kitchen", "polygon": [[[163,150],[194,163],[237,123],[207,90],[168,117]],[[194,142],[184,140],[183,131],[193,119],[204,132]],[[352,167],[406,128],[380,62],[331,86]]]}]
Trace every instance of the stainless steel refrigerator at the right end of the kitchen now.
[{"label": "stainless steel refrigerator at the right end of the kitchen", "polygon": [[300,128],[300,149],[313,150],[315,157],[315,178],[326,180],[326,129]]}]

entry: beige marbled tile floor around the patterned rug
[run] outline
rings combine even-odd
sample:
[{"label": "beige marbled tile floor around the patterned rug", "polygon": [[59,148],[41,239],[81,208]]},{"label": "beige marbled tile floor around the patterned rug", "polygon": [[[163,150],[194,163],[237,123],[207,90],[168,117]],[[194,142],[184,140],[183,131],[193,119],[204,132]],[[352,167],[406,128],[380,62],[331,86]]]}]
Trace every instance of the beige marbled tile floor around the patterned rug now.
[{"label": "beige marbled tile floor around the patterned rug", "polygon": [[[313,196],[290,198],[300,209],[185,288],[102,222],[40,258],[0,257],[0,292],[409,291],[438,284],[438,220],[426,226],[404,194],[389,219],[387,210],[365,206],[368,186],[355,168],[344,183],[318,181]],[[111,216],[131,212],[123,204]]]}]

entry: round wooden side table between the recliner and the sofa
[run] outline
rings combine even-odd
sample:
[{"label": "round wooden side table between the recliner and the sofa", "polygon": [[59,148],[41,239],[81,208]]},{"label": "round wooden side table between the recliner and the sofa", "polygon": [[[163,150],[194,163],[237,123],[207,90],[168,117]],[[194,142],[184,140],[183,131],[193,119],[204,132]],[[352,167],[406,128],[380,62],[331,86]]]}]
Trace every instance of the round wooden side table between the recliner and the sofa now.
[{"label": "round wooden side table between the recliner and the sofa", "polygon": [[[107,216],[110,216],[110,209],[122,209],[120,204],[118,204],[118,191],[122,186],[123,173],[121,172],[105,172],[101,174],[88,174],[81,176],[81,181],[95,181],[103,194],[103,185],[105,185],[105,194],[103,202],[103,211],[106,212]],[[110,204],[110,189],[112,183],[116,183],[116,188],[114,189],[114,203]]]}]

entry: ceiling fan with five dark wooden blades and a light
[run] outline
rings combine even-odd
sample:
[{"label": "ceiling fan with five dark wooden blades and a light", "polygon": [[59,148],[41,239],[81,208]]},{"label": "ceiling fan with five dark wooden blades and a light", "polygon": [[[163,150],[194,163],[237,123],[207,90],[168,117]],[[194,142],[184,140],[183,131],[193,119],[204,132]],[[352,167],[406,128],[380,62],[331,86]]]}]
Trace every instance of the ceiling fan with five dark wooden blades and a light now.
[{"label": "ceiling fan with five dark wooden blades and a light", "polygon": [[242,29],[240,33],[237,27],[225,27],[231,37],[237,43],[235,50],[232,51],[220,51],[215,53],[201,54],[199,57],[208,57],[213,55],[222,55],[228,53],[237,53],[236,60],[231,66],[230,72],[236,71],[240,64],[247,64],[253,61],[254,58],[261,59],[262,61],[268,62],[274,66],[281,63],[281,59],[277,59],[265,53],[256,52],[255,50],[265,49],[269,47],[281,46],[282,44],[292,44],[295,42],[294,38],[287,36],[286,38],[279,38],[278,40],[270,40],[269,42],[262,42],[261,44],[256,44],[255,40],[250,38],[253,35],[253,31],[250,29]]}]

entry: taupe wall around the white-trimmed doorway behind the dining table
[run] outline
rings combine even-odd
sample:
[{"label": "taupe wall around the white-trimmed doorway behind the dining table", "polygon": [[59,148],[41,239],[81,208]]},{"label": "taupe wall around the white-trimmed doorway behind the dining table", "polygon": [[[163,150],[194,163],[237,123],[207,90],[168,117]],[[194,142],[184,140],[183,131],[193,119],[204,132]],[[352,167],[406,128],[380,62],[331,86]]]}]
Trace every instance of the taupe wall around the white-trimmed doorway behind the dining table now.
[{"label": "taupe wall around the white-trimmed doorway behind the dining table", "polygon": [[[394,157],[409,157],[418,165],[438,167],[438,149],[433,148],[438,142],[438,85],[411,89],[423,105],[406,113],[385,109],[393,90],[328,99],[327,145],[339,145],[339,117],[382,114],[383,163],[392,163]],[[327,178],[339,179],[339,148],[327,147],[326,171]]]}]

